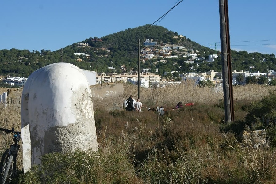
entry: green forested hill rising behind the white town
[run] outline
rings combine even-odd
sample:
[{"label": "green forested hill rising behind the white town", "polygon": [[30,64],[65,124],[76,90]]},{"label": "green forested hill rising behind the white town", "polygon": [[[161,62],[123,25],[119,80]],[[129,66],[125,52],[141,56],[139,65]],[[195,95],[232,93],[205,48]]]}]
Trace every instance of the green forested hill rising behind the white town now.
[{"label": "green forested hill rising behind the white town", "polygon": [[[198,50],[199,57],[207,57],[208,54],[215,54],[216,51],[208,47],[199,45],[196,42],[186,38],[185,35],[181,39],[173,38],[179,36],[177,32],[169,31],[162,26],[144,25],[133,29],[127,29],[113,33],[102,38],[90,37],[78,43],[88,43],[89,47],[78,47],[77,43],[73,43],[62,49],[63,62],[75,64],[81,69],[93,70],[97,72],[113,72],[107,67],[113,67],[120,73],[119,66],[127,65],[129,68],[137,69],[138,60],[138,39],[140,39],[141,48],[146,39],[153,39],[154,42],[160,44],[176,44],[184,46],[186,49]],[[90,58],[77,56],[74,53],[85,53]],[[158,68],[158,74],[170,72],[171,70],[179,73],[189,72],[189,68],[193,67],[195,71],[206,72],[210,70],[221,71],[220,58],[215,59],[213,63],[202,61],[194,61],[193,64],[187,64],[184,61],[183,53],[174,52],[172,55],[178,55],[179,58],[166,58],[167,63],[153,62],[160,61],[162,58],[155,58],[141,63],[141,68],[150,68],[152,72]],[[271,70],[276,70],[276,60],[274,54],[247,53],[246,51],[232,51],[232,69],[233,70],[251,70],[266,71],[267,66]],[[81,59],[82,61],[77,61]],[[29,50],[0,50],[0,75],[12,75],[20,77],[28,77],[33,71],[45,65],[61,62],[61,51],[29,51]]]}]

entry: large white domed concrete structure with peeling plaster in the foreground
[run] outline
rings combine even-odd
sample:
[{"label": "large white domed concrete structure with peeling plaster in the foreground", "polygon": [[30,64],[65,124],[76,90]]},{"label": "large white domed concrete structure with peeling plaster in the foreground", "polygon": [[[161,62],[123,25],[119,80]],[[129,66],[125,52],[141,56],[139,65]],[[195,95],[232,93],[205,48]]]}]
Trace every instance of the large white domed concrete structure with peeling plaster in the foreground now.
[{"label": "large white domed concrete structure with peeling plaster in the foreground", "polygon": [[93,103],[85,74],[54,63],[33,72],[22,92],[24,172],[49,152],[97,151]]}]

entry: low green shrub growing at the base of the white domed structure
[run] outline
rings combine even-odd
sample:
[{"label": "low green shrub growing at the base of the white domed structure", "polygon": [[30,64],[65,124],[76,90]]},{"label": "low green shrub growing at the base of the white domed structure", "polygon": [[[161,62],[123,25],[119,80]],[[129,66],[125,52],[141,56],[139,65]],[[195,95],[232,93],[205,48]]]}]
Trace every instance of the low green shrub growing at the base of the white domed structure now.
[{"label": "low green shrub growing at the base of the white domed structure", "polygon": [[42,157],[41,166],[20,176],[19,183],[142,183],[136,177],[128,158],[103,152],[49,153]]}]

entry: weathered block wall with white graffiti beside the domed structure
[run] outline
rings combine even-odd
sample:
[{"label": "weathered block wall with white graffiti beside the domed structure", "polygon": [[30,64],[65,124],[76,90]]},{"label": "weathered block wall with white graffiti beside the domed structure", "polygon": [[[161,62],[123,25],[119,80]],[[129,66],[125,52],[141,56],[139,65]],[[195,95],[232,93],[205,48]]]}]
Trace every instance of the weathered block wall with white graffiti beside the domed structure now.
[{"label": "weathered block wall with white graffiti beside the domed structure", "polygon": [[123,109],[123,83],[110,82],[90,86],[94,111]]}]

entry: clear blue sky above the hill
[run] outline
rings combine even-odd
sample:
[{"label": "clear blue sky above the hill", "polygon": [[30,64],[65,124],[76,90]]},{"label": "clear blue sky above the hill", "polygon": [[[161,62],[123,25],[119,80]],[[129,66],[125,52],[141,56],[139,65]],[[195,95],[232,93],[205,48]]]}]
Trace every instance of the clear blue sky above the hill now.
[{"label": "clear blue sky above the hill", "polygon": [[[152,24],[177,2],[179,1],[2,1],[0,49],[56,51],[89,37],[102,37]],[[217,50],[220,50],[218,2],[183,0],[154,25],[178,32],[204,46],[217,43]],[[275,7],[275,0],[228,0],[231,49],[276,54]]]}]

